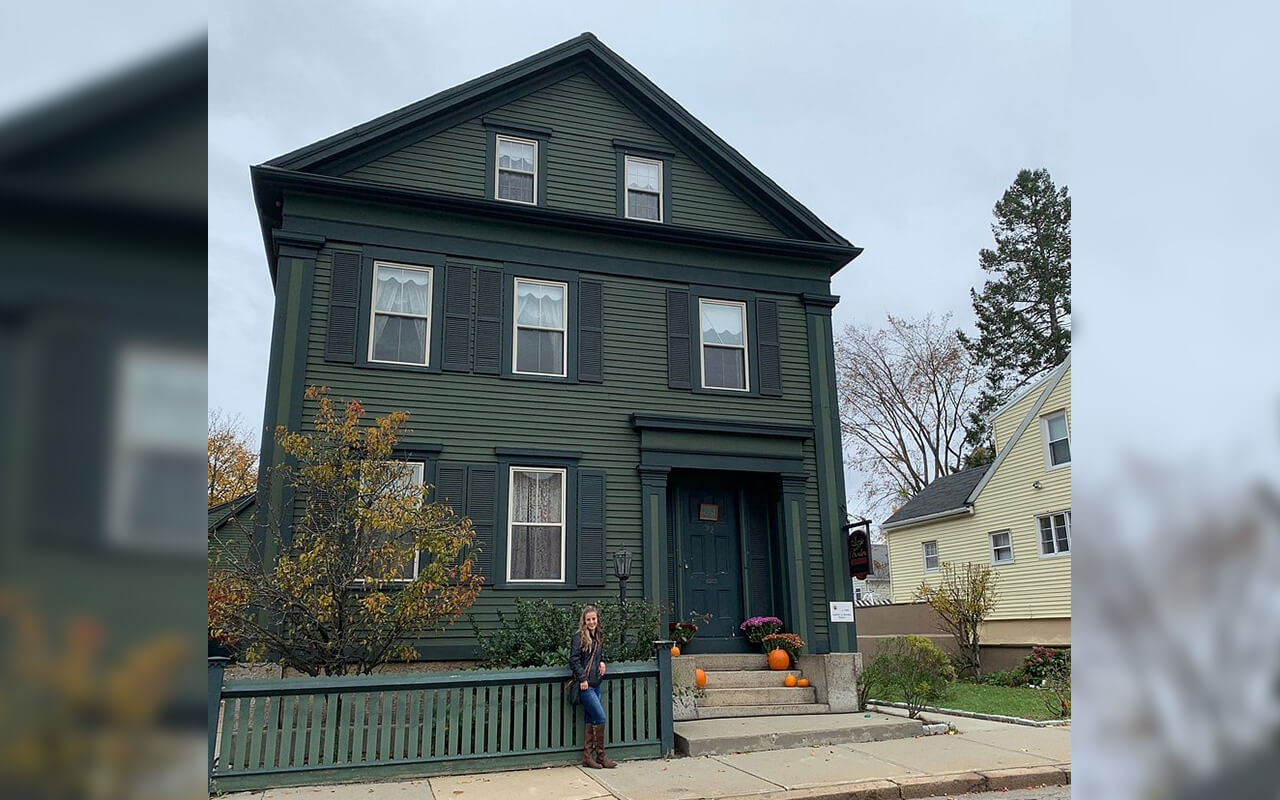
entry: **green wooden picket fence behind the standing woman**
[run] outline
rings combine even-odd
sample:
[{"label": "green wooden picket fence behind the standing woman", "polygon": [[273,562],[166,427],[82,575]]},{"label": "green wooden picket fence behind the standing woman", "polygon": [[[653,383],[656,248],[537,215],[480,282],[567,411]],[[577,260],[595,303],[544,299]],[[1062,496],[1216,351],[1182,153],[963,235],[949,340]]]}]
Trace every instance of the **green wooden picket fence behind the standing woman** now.
[{"label": "green wooden picket fence behind the standing woman", "polygon": [[[233,682],[221,673],[210,659],[210,792],[581,758],[582,713],[568,703],[567,669]],[[609,664],[605,704],[611,755],[671,753],[669,652]]]}]

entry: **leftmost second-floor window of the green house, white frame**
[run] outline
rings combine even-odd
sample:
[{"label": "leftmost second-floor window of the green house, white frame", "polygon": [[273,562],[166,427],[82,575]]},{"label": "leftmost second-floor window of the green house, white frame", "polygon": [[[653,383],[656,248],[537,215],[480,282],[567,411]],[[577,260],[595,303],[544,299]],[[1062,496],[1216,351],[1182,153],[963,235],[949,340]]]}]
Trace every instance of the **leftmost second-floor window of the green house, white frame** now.
[{"label": "leftmost second-floor window of the green house, white frame", "polygon": [[374,261],[369,360],[426,365],[431,358],[431,268]]}]

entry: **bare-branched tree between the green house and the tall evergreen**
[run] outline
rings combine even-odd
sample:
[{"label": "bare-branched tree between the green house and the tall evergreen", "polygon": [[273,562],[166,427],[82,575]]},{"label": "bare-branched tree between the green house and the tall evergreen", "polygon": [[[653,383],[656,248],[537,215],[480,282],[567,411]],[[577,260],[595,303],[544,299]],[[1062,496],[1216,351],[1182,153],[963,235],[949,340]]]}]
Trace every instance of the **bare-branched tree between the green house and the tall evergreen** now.
[{"label": "bare-branched tree between the green house and the tall evergreen", "polygon": [[936,320],[887,316],[888,325],[846,326],[836,342],[840,425],[863,499],[883,508],[964,467],[969,413],[982,381],[951,329]]}]

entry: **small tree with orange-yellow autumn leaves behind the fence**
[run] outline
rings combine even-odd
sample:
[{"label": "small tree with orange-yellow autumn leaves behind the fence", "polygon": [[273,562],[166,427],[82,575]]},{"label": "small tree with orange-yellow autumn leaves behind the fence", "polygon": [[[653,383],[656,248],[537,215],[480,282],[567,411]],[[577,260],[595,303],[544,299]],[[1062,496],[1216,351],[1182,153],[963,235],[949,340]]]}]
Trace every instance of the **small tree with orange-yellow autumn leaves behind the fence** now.
[{"label": "small tree with orange-yellow autumn leaves behind the fence", "polygon": [[410,640],[471,608],[483,582],[475,532],[396,461],[407,413],[362,425],[360,403],[337,410],[316,387],[306,397],[314,431],[275,433],[301,512],[288,531],[266,521],[274,558],[225,548],[227,570],[210,577],[210,634],[306,675],[367,675],[412,658]]}]

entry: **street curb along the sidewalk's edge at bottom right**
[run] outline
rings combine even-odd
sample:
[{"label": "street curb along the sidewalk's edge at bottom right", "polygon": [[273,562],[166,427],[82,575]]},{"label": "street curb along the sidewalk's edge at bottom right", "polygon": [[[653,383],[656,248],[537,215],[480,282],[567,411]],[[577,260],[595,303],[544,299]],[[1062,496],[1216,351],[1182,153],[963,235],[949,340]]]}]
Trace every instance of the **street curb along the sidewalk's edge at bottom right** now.
[{"label": "street curb along the sidewalk's edge at bottom right", "polygon": [[786,788],[773,792],[724,796],[716,800],[915,800],[938,795],[1070,785],[1071,764],[1053,764]]}]

